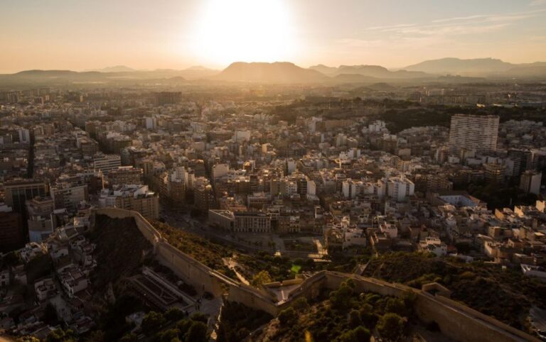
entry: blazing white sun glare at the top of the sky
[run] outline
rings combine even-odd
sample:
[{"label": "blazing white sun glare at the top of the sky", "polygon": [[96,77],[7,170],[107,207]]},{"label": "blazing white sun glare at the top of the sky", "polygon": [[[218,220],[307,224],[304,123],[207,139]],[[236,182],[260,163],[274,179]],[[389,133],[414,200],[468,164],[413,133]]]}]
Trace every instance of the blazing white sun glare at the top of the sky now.
[{"label": "blazing white sun glare at the top of the sky", "polygon": [[208,0],[192,32],[193,54],[215,65],[290,60],[296,42],[284,0]]}]

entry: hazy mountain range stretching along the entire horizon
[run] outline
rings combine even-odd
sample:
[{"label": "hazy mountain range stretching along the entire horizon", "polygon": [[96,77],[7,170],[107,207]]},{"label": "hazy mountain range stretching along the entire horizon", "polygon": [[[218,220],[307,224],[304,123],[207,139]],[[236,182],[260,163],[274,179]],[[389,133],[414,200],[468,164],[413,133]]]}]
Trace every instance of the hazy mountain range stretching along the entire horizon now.
[{"label": "hazy mountain range stretching along the entire horizon", "polygon": [[[456,77],[455,77],[456,76]],[[314,65],[291,62],[234,62],[224,70],[195,66],[186,70],[134,70],[124,65],[99,70],[26,70],[0,75],[0,84],[79,82],[259,82],[271,84],[373,84],[378,82],[479,82],[494,79],[546,80],[546,62],[513,64],[493,58],[426,60],[400,70],[380,65]]]}]

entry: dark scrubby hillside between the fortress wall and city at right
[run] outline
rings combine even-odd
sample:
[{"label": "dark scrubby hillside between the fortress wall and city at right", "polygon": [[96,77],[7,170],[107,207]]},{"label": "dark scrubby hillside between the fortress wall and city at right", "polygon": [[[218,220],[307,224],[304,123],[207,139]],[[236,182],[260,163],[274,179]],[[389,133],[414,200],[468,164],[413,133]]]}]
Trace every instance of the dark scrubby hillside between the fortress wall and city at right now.
[{"label": "dark scrubby hillside between the fortress wall and city at right", "polygon": [[439,282],[452,291],[453,299],[523,331],[528,330],[530,307],[546,308],[546,283],[500,266],[393,253],[373,260],[364,275],[416,288]]}]

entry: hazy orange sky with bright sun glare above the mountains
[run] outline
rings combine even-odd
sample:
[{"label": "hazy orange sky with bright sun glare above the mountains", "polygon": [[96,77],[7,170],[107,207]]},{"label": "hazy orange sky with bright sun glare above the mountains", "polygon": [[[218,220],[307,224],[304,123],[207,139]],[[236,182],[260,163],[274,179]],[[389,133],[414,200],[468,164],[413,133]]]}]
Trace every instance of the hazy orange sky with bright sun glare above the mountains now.
[{"label": "hazy orange sky with bright sun glare above the mountains", "polygon": [[1,0],[0,72],[546,61],[546,0]]}]

